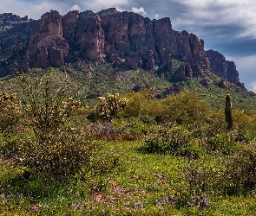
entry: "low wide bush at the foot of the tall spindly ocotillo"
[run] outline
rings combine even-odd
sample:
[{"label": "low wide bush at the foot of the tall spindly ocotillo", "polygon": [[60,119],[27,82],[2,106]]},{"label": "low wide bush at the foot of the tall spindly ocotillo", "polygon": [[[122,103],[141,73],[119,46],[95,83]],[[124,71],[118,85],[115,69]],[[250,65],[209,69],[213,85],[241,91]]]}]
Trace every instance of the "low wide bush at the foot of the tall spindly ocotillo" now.
[{"label": "low wide bush at the foot of the tall spindly ocotillo", "polygon": [[[84,137],[79,130],[62,131],[43,142],[19,137],[2,143],[5,158],[11,158],[17,167],[26,168],[30,176],[39,175],[57,181],[66,181],[74,175],[105,175],[117,166],[115,152],[102,155],[102,144]],[[28,176],[27,176],[28,177]]]}]

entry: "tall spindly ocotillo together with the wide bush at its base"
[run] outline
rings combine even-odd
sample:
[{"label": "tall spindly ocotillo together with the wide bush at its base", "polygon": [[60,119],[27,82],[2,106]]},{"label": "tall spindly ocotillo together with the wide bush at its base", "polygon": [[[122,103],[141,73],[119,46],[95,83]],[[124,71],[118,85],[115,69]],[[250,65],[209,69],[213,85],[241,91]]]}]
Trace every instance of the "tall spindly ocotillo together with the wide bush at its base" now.
[{"label": "tall spindly ocotillo together with the wide bush at its base", "polygon": [[74,114],[80,102],[69,96],[66,80],[55,86],[51,73],[33,80],[17,76],[23,88],[23,109],[34,134],[5,142],[1,146],[8,152],[16,166],[28,168],[56,180],[67,179],[86,172],[107,173],[113,168],[112,157],[95,160],[102,146],[89,140],[83,130],[65,123]]}]

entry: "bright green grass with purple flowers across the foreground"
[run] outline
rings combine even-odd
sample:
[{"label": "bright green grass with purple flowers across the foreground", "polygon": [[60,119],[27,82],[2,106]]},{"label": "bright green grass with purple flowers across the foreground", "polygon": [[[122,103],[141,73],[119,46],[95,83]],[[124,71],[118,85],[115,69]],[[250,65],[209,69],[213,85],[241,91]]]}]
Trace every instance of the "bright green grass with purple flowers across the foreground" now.
[{"label": "bright green grass with purple flowers across the foreground", "polygon": [[[254,191],[248,195],[210,194],[207,206],[177,200],[186,182],[182,170],[191,162],[184,157],[148,154],[142,141],[109,142],[105,151],[115,149],[121,167],[108,176],[74,179],[59,184],[35,178],[20,178],[18,168],[1,161],[1,215],[253,215]],[[213,166],[219,156],[196,161]],[[217,161],[216,161],[217,160]],[[11,172],[10,172],[11,170]],[[189,200],[188,200],[189,202]]]}]

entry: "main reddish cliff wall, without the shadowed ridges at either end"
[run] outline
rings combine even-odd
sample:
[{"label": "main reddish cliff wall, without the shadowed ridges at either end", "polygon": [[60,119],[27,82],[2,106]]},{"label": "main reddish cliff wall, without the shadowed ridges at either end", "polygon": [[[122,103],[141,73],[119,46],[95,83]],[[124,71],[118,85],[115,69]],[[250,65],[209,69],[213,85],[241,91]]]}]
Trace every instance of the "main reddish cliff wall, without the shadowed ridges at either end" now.
[{"label": "main reddish cliff wall, without the shadowed ridges at either end", "polygon": [[74,57],[135,70],[163,64],[172,70],[176,57],[187,63],[185,76],[210,71],[204,43],[196,35],[174,31],[169,18],[152,21],[114,8],[98,13],[70,11],[65,16],[56,10],[44,14],[30,34],[24,67],[26,71],[62,67]]}]

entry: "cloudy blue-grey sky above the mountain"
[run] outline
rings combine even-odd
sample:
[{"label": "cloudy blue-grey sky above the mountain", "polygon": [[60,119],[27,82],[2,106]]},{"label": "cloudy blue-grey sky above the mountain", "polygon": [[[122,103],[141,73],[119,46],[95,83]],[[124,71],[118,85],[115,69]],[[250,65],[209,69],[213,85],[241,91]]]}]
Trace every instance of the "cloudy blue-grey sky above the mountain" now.
[{"label": "cloudy blue-grey sky above the mountain", "polygon": [[115,7],[150,19],[170,17],[173,29],[187,30],[233,60],[240,81],[256,92],[255,0],[1,0],[0,13],[39,19],[49,10],[65,15],[69,10],[98,12]]}]

